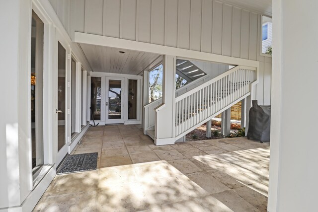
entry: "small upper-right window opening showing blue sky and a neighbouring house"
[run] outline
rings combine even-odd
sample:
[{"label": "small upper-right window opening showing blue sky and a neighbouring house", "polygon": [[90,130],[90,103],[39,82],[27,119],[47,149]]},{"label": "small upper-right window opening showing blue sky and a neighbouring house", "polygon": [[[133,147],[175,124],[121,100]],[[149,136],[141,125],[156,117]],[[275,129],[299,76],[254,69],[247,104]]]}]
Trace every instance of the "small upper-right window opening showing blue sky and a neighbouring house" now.
[{"label": "small upper-right window opening showing blue sky and a neighbouring house", "polygon": [[273,24],[272,19],[266,16],[262,16],[262,53],[272,54],[272,39],[273,39]]}]

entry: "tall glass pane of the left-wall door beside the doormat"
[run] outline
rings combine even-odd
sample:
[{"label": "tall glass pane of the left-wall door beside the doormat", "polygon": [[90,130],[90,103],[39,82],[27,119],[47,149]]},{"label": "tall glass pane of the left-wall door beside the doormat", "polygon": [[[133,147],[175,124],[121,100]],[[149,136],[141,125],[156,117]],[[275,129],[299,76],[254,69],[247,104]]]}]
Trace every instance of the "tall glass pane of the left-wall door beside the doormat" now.
[{"label": "tall glass pane of the left-wall door beside the doormat", "polygon": [[66,75],[66,50],[60,44],[58,46],[58,151],[65,144],[65,75]]}]

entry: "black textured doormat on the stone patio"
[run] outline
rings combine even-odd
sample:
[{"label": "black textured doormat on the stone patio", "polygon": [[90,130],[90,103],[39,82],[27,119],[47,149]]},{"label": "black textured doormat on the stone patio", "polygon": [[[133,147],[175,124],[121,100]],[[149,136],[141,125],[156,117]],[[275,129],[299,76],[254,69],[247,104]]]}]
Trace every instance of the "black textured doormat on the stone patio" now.
[{"label": "black textured doormat on the stone patio", "polygon": [[97,152],[70,154],[63,162],[57,174],[95,170],[97,167],[97,155]]}]

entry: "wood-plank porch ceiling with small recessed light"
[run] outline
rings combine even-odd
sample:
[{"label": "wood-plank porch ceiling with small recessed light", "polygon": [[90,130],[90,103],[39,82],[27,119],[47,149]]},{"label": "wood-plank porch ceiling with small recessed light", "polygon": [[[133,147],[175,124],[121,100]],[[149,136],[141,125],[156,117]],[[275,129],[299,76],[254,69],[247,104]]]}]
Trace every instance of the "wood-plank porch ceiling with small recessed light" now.
[{"label": "wood-plank porch ceiling with small recessed light", "polygon": [[[138,75],[161,59],[153,53],[137,52],[90,44],[79,44],[91,68],[96,72]],[[119,53],[120,51],[124,54]],[[157,62],[158,63],[158,62]]]}]

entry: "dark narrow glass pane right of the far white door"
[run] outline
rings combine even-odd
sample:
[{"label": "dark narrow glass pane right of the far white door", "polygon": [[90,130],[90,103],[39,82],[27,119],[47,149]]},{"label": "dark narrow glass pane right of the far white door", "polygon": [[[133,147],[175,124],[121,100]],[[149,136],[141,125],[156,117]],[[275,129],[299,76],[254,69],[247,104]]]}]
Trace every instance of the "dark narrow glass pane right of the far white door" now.
[{"label": "dark narrow glass pane right of the far white door", "polygon": [[137,119],[137,80],[128,80],[128,119]]}]

